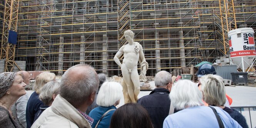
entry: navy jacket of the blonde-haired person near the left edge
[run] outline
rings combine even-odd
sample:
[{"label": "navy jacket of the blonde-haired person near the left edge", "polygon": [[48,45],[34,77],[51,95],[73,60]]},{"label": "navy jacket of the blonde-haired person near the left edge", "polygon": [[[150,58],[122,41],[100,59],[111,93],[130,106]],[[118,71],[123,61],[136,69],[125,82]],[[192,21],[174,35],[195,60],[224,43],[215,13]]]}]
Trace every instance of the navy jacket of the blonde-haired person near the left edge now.
[{"label": "navy jacket of the blonde-haired person near the left edge", "polygon": [[40,107],[44,106],[44,103],[39,100],[38,94],[34,91],[30,98],[28,99],[27,108],[26,108],[26,121],[27,121],[27,128],[30,128],[35,122],[35,113],[40,111]]}]

